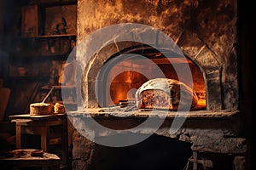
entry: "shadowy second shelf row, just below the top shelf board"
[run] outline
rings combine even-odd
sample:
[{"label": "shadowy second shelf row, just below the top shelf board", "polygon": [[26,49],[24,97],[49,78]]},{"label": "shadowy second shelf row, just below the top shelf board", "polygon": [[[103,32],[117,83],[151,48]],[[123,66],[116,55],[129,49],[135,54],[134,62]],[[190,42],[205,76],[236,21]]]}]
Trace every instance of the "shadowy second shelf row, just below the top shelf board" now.
[{"label": "shadowy second shelf row, just below the top shelf board", "polygon": [[63,60],[72,52],[76,34],[49,35],[37,37],[16,37],[10,53],[11,63]]}]

